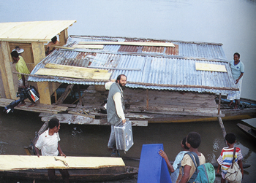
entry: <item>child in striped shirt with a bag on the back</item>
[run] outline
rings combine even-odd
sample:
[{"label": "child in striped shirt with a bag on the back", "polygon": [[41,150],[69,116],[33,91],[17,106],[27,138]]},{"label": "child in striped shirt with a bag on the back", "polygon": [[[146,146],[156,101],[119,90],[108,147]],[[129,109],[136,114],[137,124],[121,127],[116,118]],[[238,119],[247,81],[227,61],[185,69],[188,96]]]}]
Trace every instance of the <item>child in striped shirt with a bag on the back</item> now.
[{"label": "child in striped shirt with a bag on the back", "polygon": [[[241,149],[239,147],[234,147],[234,144],[236,143],[236,136],[233,133],[227,133],[225,136],[225,140],[227,142],[228,147],[224,147],[222,149],[222,152],[219,155],[219,158],[217,162],[219,163],[219,166],[217,168],[217,174],[220,173],[220,168],[222,171],[222,183],[225,183],[225,179],[227,178],[227,171],[231,167],[233,163],[233,157],[235,159],[235,162],[238,163],[238,166],[241,169],[241,174],[244,176],[244,170],[243,170],[243,155],[241,153]],[[234,149],[236,148],[236,149]],[[238,180],[236,182],[241,182],[241,180]]]}]

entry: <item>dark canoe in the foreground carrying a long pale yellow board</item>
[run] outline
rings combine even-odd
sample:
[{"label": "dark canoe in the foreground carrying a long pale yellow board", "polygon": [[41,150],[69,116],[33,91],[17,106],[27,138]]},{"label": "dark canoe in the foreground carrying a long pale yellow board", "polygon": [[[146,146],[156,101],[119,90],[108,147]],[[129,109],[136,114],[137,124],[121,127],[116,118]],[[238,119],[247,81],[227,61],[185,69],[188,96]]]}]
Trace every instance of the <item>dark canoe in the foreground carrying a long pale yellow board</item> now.
[{"label": "dark canoe in the foreground carrying a long pale yellow board", "polygon": [[[70,181],[105,182],[132,177],[138,168],[124,165],[121,157],[52,157],[0,155],[0,177],[48,180],[47,169],[67,169]],[[58,179],[61,174],[56,171]]]}]

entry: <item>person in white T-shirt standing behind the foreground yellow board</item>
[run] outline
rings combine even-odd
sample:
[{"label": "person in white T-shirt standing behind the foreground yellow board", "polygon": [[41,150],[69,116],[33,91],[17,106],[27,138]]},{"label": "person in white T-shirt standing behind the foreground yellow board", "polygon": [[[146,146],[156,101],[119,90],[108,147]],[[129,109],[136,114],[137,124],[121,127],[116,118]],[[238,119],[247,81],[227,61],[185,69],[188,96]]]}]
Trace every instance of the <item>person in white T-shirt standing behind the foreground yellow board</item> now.
[{"label": "person in white T-shirt standing behind the foreground yellow board", "polygon": [[[49,120],[48,127],[48,130],[39,136],[37,144],[35,145],[34,149],[37,153],[37,156],[39,157],[39,149],[41,149],[42,156],[61,155],[66,157],[66,155],[62,152],[61,147],[59,145],[59,141],[61,140],[59,138],[59,128],[61,127],[59,120],[56,117],[53,117]],[[67,169],[59,169],[59,172],[61,173],[64,183],[68,183],[69,172],[67,171]],[[50,182],[55,182],[55,169],[48,169],[48,176]]]}]

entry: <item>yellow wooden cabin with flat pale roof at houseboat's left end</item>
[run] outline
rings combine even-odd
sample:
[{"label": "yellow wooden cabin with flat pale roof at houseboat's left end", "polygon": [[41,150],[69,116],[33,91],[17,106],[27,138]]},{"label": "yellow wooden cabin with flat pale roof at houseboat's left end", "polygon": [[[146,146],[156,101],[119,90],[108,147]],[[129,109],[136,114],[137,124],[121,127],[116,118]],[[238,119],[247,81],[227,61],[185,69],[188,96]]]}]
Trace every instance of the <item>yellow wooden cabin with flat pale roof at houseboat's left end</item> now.
[{"label": "yellow wooden cabin with flat pale roof at houseboat's left end", "polygon": [[[45,58],[45,44],[51,41],[53,36],[59,35],[61,45],[67,43],[67,28],[72,26],[75,20],[53,20],[35,22],[12,22],[0,23],[0,95],[1,98],[17,99],[18,91],[17,74],[15,64],[12,64],[10,53],[19,46],[24,50],[21,54],[26,61],[29,71],[34,69],[40,61]],[[55,85],[48,85],[47,82],[33,83],[39,93],[50,92],[45,88],[52,88]],[[49,104],[47,98],[40,98],[41,104]]]}]

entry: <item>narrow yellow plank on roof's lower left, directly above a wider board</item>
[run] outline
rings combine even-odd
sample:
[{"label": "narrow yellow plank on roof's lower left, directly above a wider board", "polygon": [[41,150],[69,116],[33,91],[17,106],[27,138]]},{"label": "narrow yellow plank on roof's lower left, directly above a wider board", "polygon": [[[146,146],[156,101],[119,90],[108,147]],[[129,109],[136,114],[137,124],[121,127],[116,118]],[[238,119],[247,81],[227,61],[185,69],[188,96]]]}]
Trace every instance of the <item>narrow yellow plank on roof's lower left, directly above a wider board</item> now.
[{"label": "narrow yellow plank on roof's lower left, directly above a wider board", "polygon": [[85,68],[85,67],[66,66],[66,65],[60,65],[60,64],[55,64],[55,63],[47,63],[45,65],[45,68],[64,69],[64,70],[69,70],[69,71],[86,71],[86,72],[103,72],[103,73],[108,72],[108,70],[103,70],[103,69],[90,69],[90,68]]}]

